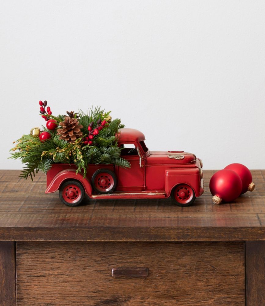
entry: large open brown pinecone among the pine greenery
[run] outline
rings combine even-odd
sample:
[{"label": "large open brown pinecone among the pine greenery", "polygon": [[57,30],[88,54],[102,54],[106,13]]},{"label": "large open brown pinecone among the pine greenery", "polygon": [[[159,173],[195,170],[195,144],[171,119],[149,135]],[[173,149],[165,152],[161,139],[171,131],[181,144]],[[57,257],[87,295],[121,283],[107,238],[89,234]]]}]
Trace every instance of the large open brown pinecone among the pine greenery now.
[{"label": "large open brown pinecone among the pine greenery", "polygon": [[64,139],[68,142],[74,142],[77,138],[83,136],[81,129],[83,125],[79,124],[76,118],[65,117],[63,122],[60,122],[62,129],[57,129],[57,134],[60,135],[60,139]]}]

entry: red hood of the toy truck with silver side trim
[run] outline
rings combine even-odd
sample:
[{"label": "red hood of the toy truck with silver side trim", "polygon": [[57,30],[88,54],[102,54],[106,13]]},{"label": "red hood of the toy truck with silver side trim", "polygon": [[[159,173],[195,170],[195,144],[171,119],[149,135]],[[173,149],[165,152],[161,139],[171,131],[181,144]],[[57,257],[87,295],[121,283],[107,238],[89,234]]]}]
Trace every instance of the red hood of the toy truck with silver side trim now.
[{"label": "red hood of the toy truck with silver side trim", "polygon": [[146,165],[179,165],[196,162],[196,156],[184,151],[150,151]]}]

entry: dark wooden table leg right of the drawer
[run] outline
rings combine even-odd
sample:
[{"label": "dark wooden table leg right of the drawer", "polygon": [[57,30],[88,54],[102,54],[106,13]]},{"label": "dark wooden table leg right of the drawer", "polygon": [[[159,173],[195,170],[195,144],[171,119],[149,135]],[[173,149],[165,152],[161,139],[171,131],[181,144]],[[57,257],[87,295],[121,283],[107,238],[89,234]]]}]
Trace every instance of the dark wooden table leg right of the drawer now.
[{"label": "dark wooden table leg right of the drawer", "polygon": [[246,300],[265,305],[265,241],[246,241]]}]

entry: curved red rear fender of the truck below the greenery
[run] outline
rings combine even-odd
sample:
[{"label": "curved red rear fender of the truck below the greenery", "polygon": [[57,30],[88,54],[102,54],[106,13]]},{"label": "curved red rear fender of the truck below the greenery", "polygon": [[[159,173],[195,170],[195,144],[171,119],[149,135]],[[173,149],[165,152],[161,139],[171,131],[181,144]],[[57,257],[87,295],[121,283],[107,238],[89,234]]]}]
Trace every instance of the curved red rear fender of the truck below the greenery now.
[{"label": "curved red rear fender of the truck below the greenery", "polygon": [[51,193],[57,191],[61,184],[65,180],[76,180],[79,181],[83,187],[85,188],[85,191],[88,195],[92,194],[92,187],[90,182],[86,177],[83,177],[83,174],[75,172],[75,170],[62,170],[59,173],[56,174],[56,176],[53,178],[53,180],[50,182],[50,185],[47,187],[45,193]]}]

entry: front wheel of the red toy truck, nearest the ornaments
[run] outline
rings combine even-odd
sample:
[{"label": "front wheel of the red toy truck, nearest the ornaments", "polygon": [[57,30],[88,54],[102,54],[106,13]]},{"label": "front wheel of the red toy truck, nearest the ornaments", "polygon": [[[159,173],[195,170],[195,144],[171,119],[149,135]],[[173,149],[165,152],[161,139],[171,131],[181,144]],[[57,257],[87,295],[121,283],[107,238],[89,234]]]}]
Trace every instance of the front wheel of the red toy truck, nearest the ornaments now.
[{"label": "front wheel of the red toy truck, nearest the ornaments", "polygon": [[189,185],[179,184],[171,191],[171,199],[178,206],[189,206],[195,200],[195,192]]}]

